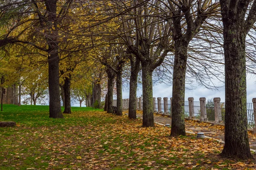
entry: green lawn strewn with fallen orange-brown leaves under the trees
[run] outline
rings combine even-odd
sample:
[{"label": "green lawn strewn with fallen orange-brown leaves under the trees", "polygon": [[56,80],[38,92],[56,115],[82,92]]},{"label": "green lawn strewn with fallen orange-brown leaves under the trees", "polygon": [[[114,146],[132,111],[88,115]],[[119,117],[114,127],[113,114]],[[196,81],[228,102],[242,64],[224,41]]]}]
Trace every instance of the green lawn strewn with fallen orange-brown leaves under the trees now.
[{"label": "green lawn strewn with fallen orange-brown leaves under the trees", "polygon": [[[22,106],[23,107],[23,106]],[[195,136],[170,138],[170,128],[141,127],[141,119],[73,108],[65,119],[47,109],[0,113],[0,169],[255,169],[255,161],[221,159],[223,145]]]}]

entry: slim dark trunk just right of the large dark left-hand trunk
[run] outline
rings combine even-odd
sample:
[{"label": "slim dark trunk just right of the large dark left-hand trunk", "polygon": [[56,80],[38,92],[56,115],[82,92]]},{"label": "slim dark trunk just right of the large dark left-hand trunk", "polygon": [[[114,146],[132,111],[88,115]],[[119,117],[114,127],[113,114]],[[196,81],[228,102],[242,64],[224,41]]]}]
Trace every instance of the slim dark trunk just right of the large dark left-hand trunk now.
[{"label": "slim dark trunk just right of the large dark left-hand trunk", "polygon": [[69,77],[65,77],[64,79],[64,98],[65,98],[65,109],[63,113],[71,113],[71,99],[70,99],[70,79]]}]

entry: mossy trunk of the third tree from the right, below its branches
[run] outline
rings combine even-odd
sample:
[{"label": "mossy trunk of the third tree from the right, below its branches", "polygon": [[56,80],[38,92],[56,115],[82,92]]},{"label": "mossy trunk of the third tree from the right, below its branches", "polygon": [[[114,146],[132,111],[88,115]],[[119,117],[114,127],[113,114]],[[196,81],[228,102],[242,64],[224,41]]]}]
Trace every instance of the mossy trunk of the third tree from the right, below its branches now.
[{"label": "mossy trunk of the third tree from the right, below its branches", "polygon": [[150,62],[141,63],[143,91],[143,127],[154,127],[153,85]]}]

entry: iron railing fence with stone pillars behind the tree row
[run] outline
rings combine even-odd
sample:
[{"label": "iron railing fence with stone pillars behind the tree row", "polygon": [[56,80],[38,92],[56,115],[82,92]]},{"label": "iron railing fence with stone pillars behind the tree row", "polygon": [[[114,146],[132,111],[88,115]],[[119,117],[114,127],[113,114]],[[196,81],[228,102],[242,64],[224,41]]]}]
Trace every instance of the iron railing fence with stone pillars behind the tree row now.
[{"label": "iron railing fence with stone pillars behind the tree row", "polygon": [[[213,101],[207,102],[205,97],[199,98],[199,101],[194,101],[193,97],[189,97],[184,103],[185,117],[189,119],[200,119],[201,121],[212,121],[214,124],[225,122],[225,102],[221,102],[221,98],[215,97]],[[113,100],[113,105],[116,106],[116,99]],[[172,97],[168,100],[164,97],[153,97],[153,106],[155,113],[172,115],[171,111]],[[128,109],[129,99],[122,99],[122,106]],[[137,110],[143,110],[142,97],[137,98]],[[253,128],[256,133],[256,98],[253,98],[252,103],[247,103],[247,123],[249,128]]]}]

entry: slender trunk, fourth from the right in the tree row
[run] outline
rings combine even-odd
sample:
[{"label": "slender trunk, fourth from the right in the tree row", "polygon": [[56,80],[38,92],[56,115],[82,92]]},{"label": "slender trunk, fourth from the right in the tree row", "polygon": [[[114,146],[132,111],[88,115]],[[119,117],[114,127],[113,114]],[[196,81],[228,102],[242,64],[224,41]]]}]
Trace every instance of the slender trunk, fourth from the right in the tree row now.
[{"label": "slender trunk, fourth from the right in the tree row", "polygon": [[[135,58],[134,58],[135,59]],[[130,119],[136,119],[137,111],[137,81],[138,74],[140,71],[140,60],[130,58],[131,61],[131,77],[130,77],[130,93],[129,93],[129,113],[128,117]]]}]

